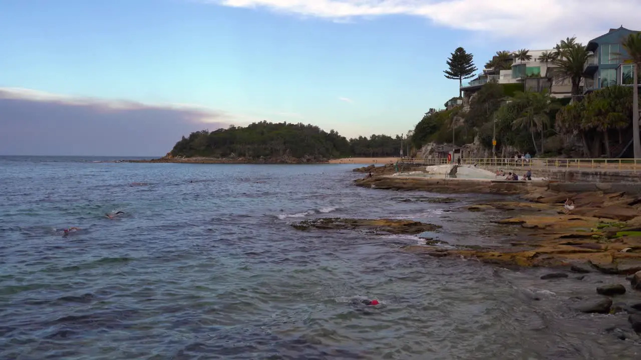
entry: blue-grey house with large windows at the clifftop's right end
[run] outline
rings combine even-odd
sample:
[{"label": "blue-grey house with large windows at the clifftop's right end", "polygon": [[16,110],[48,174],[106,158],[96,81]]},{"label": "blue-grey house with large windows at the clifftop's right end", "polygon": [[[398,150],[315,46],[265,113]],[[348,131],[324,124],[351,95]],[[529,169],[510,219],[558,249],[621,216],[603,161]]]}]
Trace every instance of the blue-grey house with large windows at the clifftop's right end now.
[{"label": "blue-grey house with large windows at the clifftop's right end", "polygon": [[587,50],[592,56],[583,66],[583,94],[612,85],[632,85],[632,64],[626,63],[628,54],[621,42],[638,32],[621,26],[588,42]]}]

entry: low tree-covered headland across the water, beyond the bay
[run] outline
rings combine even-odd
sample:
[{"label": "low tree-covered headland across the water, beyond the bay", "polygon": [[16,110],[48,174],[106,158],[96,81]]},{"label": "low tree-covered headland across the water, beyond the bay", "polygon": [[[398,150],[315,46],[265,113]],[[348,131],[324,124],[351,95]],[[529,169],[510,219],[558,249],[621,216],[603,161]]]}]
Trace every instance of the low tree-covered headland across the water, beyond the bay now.
[{"label": "low tree-covered headland across the water, beyond the bay", "polygon": [[172,156],[210,158],[312,158],[326,160],[347,156],[398,156],[401,138],[360,136],[347,140],[337,131],[323,131],[304,124],[255,122],[216,131],[196,131],[174,145]]}]

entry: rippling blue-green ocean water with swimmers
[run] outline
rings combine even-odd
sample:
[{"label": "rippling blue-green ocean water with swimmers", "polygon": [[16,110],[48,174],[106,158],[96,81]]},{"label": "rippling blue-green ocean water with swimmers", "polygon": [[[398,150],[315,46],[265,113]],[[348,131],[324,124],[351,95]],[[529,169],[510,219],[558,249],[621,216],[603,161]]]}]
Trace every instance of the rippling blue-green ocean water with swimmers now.
[{"label": "rippling blue-green ocean water with swimmers", "polygon": [[504,197],[359,188],[353,165],[108,160],[0,157],[0,359],[641,358],[615,336],[626,315],[572,309],[622,278],[542,281],[404,249],[419,236],[290,226],[406,218],[492,245],[519,236],[489,221],[505,215],[456,208]]}]

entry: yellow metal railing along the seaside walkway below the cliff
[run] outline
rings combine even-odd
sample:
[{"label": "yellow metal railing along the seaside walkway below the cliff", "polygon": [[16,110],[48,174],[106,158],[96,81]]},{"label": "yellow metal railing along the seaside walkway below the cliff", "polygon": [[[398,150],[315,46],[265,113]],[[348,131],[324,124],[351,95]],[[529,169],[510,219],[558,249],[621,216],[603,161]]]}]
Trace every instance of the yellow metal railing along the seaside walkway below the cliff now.
[{"label": "yellow metal railing along the seaside walkway below the cliff", "polygon": [[[409,163],[415,165],[445,165],[451,164],[447,158],[399,158],[397,163]],[[458,164],[458,159],[454,160]],[[641,171],[641,159],[514,159],[514,158],[463,158],[461,165],[477,165],[482,167],[497,168],[573,168],[573,169],[594,169],[594,170],[620,170],[620,171]]]}]

